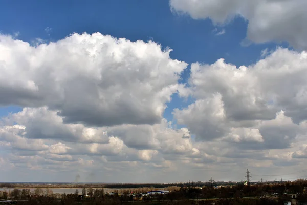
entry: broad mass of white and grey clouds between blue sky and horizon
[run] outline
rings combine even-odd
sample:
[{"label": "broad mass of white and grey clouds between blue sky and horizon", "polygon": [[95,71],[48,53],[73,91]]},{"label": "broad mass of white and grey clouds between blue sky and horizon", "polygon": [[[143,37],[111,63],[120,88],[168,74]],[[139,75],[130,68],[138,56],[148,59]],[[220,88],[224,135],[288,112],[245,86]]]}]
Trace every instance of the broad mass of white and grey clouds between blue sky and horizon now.
[{"label": "broad mass of white and grey clouds between blue sky and horizon", "polygon": [[[182,85],[187,64],[170,51],[100,33],[35,47],[1,35],[0,104],[23,107],[0,120],[2,176],[174,182],[303,169],[306,52],[278,48],[240,67],[193,63]],[[173,110],[176,124],[163,117],[174,93],[193,99]]]}]

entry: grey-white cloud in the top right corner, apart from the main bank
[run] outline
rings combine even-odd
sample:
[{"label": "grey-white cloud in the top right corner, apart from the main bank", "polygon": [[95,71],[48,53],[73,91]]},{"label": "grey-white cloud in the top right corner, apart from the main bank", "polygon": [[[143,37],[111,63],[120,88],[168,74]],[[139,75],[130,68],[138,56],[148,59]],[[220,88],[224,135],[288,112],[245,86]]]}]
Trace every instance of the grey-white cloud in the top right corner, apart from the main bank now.
[{"label": "grey-white cloud in the top right corner, apart from the main bank", "polygon": [[227,24],[235,17],[248,20],[247,39],[255,43],[289,42],[307,49],[307,14],[304,0],[170,0],[172,11],[194,19]]}]

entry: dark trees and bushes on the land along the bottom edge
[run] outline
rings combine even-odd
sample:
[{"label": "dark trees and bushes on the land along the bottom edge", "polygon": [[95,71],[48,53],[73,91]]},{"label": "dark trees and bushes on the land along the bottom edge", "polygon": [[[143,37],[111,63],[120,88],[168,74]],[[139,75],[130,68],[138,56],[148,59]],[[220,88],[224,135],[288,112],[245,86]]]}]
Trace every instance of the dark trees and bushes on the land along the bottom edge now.
[{"label": "dark trees and bushes on the land along the bottom edge", "polygon": [[[244,186],[227,185],[221,187],[179,187],[165,188],[170,192],[165,195],[147,195],[147,191],[156,188],[131,188],[114,189],[111,193],[105,193],[103,188],[83,188],[79,194],[76,189],[74,194],[54,194],[49,188],[13,189],[1,191],[0,200],[17,200],[17,204],[126,204],[140,203],[150,204],[284,204],[292,200],[290,194],[297,194],[297,204],[307,202],[306,181],[286,182],[280,184],[262,184]],[[134,190],[134,191],[131,191]],[[133,194],[131,194],[133,192]]]}]

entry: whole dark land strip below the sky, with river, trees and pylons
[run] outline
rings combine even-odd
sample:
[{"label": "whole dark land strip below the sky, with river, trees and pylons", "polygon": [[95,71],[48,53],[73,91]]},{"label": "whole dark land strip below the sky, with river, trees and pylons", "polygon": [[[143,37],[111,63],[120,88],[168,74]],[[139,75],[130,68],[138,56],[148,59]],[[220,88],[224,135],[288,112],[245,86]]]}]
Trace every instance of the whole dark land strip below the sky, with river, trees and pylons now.
[{"label": "whole dark land strip below the sky, with river, trees and pylons", "polygon": [[307,180],[175,183],[0,183],[0,204],[306,205]]}]

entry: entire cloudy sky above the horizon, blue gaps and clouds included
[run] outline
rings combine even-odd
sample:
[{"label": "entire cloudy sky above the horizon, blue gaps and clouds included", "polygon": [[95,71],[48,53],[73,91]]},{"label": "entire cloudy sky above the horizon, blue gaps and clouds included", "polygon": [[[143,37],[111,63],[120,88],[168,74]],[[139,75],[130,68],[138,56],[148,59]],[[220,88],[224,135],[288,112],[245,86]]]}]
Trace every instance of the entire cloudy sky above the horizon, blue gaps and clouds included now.
[{"label": "entire cloudy sky above the horizon, blue gaps and clouds included", "polygon": [[307,178],[306,8],[3,2],[0,181]]}]

